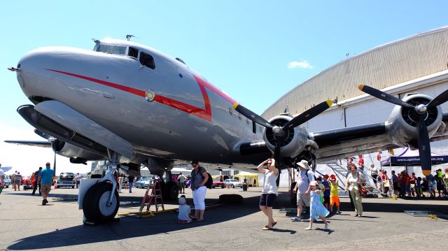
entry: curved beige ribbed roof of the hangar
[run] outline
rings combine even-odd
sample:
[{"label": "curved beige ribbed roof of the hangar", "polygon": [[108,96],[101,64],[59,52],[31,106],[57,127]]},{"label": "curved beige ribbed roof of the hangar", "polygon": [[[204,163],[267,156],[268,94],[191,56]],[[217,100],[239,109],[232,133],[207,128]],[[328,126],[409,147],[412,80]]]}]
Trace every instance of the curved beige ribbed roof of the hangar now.
[{"label": "curved beige ribbed roof of the hangar", "polygon": [[[267,108],[267,119],[283,113],[302,113],[327,99],[344,101],[364,94],[359,84],[390,88],[448,69],[448,26],[379,45],[325,69],[297,85]],[[388,89],[389,89],[388,88]]]}]

